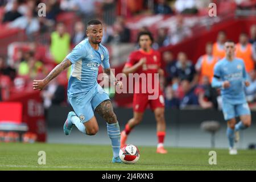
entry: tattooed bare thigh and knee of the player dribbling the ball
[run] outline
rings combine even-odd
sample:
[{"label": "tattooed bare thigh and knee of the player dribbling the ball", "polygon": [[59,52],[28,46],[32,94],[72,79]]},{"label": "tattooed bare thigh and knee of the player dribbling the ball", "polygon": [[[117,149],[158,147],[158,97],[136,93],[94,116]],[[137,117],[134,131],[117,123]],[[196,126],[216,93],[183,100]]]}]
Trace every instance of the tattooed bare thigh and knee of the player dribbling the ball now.
[{"label": "tattooed bare thigh and knee of the player dribbling the ball", "polygon": [[95,111],[109,124],[117,122],[117,116],[114,113],[110,100],[101,102],[101,104],[96,107]]}]

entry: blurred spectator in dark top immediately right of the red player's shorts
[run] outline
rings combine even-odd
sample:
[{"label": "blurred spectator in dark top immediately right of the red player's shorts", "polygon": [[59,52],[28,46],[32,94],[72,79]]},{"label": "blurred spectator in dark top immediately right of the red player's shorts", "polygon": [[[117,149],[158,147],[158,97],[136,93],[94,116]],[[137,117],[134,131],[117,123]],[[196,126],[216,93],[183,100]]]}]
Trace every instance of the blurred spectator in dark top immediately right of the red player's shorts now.
[{"label": "blurred spectator in dark top immediately right of the red player's shorts", "polygon": [[180,101],[176,97],[172,86],[167,86],[165,89],[165,106],[166,108],[176,108],[179,109]]}]

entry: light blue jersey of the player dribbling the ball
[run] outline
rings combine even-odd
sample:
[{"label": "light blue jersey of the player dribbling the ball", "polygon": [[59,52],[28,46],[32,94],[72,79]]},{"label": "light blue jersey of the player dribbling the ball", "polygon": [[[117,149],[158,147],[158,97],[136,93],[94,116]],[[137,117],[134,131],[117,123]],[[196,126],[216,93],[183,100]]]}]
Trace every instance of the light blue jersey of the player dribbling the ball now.
[{"label": "light blue jersey of the player dribbling the ball", "polygon": [[96,88],[98,67],[110,68],[109,52],[99,44],[98,50],[92,48],[88,39],[82,40],[66,57],[72,63],[68,80],[68,96],[88,93]]}]

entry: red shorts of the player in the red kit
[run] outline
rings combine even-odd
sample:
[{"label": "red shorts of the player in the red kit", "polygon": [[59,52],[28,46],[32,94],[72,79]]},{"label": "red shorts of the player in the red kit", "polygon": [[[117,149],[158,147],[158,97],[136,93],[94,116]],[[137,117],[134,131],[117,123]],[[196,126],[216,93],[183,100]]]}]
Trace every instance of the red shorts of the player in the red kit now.
[{"label": "red shorts of the player in the red kit", "polygon": [[143,113],[148,104],[150,105],[150,109],[152,111],[154,111],[157,107],[164,107],[163,94],[160,93],[158,98],[155,100],[149,100],[148,94],[133,95],[133,111]]}]

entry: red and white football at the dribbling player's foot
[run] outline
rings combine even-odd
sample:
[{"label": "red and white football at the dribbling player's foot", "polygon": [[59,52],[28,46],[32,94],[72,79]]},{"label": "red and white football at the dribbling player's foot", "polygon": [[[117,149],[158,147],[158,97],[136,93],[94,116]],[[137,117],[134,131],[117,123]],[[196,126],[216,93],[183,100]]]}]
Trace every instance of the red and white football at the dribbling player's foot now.
[{"label": "red and white football at the dribbling player's foot", "polygon": [[139,150],[133,144],[126,144],[120,149],[119,157],[125,164],[135,164],[139,160]]}]

